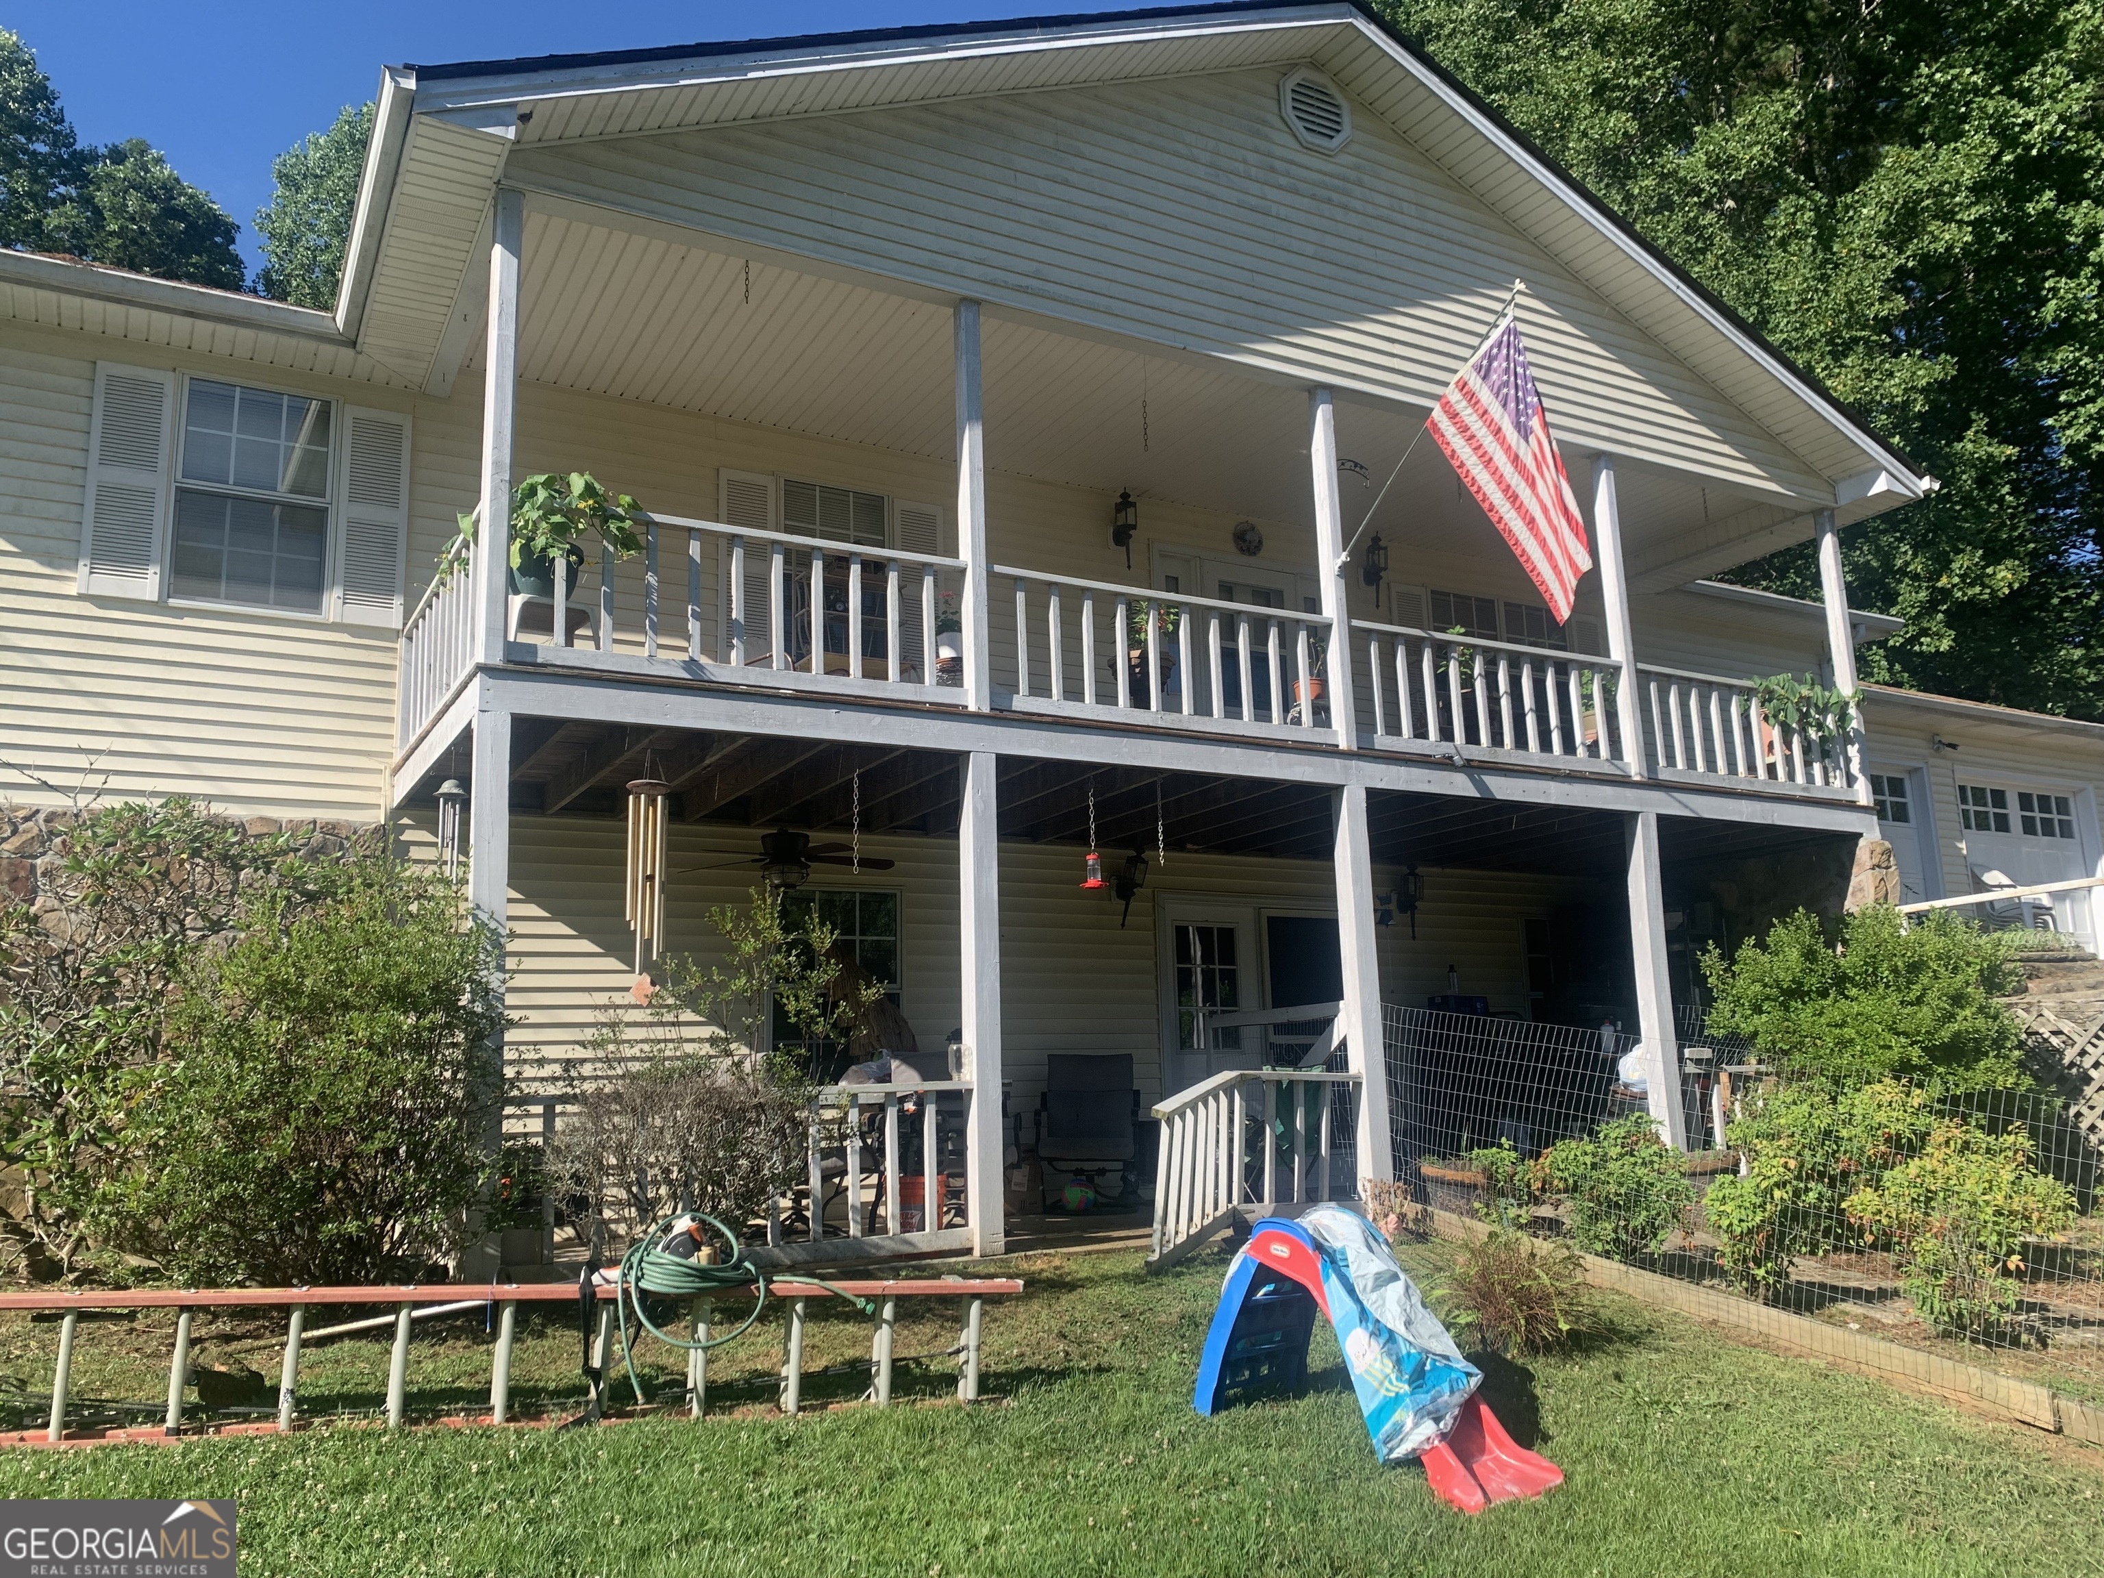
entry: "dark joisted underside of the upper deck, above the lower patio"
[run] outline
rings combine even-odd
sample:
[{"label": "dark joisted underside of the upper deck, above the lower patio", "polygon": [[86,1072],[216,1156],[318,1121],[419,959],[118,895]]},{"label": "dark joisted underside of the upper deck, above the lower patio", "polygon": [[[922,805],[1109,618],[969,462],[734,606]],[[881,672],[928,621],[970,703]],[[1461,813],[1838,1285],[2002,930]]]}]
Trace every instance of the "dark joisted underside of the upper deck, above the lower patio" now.
[{"label": "dark joisted underside of the upper deck, above the lower patio", "polygon": [[[861,831],[869,835],[957,831],[959,760],[943,751],[530,717],[513,728],[513,812],[619,816],[623,785],[646,772],[673,785],[673,814],[688,823],[846,833],[858,800]],[[465,762],[436,766],[431,783],[450,774],[465,774]],[[423,785],[423,797],[431,783]],[[1033,760],[1002,764],[1002,837],[1086,848],[1090,787],[1096,848],[1107,856],[1140,850],[1153,858],[1157,837],[1172,863],[1180,852],[1330,856],[1330,795],[1321,787]],[[1589,879],[1622,873],[1618,812],[1389,791],[1376,791],[1368,810],[1378,865]],[[1776,854],[1826,837],[1833,835],[1791,827],[1660,821],[1660,854],[1668,865]]]}]

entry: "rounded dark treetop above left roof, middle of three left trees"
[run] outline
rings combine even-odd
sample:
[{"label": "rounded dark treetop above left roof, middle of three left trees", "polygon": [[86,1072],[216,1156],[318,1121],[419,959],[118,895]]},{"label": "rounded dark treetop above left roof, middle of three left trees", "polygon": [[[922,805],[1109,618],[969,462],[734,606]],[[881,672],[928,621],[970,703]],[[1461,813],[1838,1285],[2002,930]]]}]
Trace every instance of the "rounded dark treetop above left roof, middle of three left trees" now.
[{"label": "rounded dark treetop above left roof, middle of three left trees", "polygon": [[160,149],[133,137],[97,149],[67,198],[44,217],[57,250],[114,269],[240,290],[240,225],[189,185]]}]

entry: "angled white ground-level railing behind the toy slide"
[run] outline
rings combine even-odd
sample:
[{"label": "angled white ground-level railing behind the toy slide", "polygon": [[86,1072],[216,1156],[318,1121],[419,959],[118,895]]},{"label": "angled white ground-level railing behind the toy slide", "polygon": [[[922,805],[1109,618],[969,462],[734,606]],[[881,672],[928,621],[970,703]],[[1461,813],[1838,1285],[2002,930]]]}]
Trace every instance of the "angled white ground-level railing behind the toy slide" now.
[{"label": "angled white ground-level railing behind the toy slide", "polygon": [[[1332,1199],[1332,1134],[1351,1119],[1338,1086],[1357,1088],[1359,1075],[1231,1069],[1155,1107],[1161,1153],[1147,1267],[1176,1265],[1237,1218],[1290,1216]],[[1344,1182],[1357,1195],[1357,1178]]]}]

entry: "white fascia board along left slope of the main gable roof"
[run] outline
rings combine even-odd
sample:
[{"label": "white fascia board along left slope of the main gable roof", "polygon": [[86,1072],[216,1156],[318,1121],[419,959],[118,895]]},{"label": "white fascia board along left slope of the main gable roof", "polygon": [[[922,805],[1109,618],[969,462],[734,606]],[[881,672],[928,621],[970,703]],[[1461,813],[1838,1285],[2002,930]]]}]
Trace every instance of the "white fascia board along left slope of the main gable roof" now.
[{"label": "white fascia board along left slope of the main gable roof", "polygon": [[1039,55],[1065,48],[1096,48],[1102,44],[1142,44],[1168,38],[1208,38],[1218,34],[1281,32],[1336,27],[1359,21],[1349,4],[1281,6],[1279,11],[1241,13],[1233,17],[1189,17],[1134,23],[1121,17],[1079,21],[1048,27],[1018,27],[1012,34],[974,34],[970,38],[869,40],[837,44],[827,50],[772,48],[743,55],[699,55],[688,61],[633,61],[612,65],[555,67],[549,72],[513,72],[507,76],[457,78],[431,82],[417,95],[419,112],[473,109],[484,105],[549,103],[553,99],[589,97],[595,93],[638,93],[650,88],[692,88],[711,82],[745,82],[757,76],[810,76],[867,67],[913,67],[938,61],[999,59],[1006,55]]}]

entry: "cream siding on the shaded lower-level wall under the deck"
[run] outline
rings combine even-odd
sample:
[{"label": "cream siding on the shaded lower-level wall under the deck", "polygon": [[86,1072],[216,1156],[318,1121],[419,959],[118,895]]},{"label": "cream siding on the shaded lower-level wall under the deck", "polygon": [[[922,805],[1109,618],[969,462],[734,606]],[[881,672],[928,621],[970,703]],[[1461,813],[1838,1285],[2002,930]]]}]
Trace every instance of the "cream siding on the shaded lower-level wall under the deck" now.
[{"label": "cream siding on the shaded lower-level wall under the deck", "polygon": [[[427,818],[404,823],[429,846]],[[671,829],[665,926],[667,951],[715,962],[711,905],[736,905],[747,869],[694,869],[760,848],[764,827]],[[957,854],[951,839],[865,837],[863,852],[896,861],[894,871],[856,877],[823,867],[812,888],[894,890],[901,896],[901,1006],[922,1050],[940,1048],[957,1027]],[[1212,894],[1258,909],[1334,913],[1334,877],[1311,861],[1229,858],[1170,852],[1149,871],[1119,930],[1119,905],[1079,890],[1079,846],[1002,844],[1002,1037],[1012,1111],[1029,1113],[1044,1088],[1048,1052],[1130,1052],[1147,1100],[1161,1094],[1161,1012],[1155,959],[1155,903]],[[1546,915],[1567,884],[1481,871],[1427,871],[1418,940],[1408,922],[1380,932],[1382,997],[1422,1004],[1445,991],[1448,966],[1464,991],[1494,1010],[1525,1014],[1521,922]],[[511,928],[515,978],[509,1008],[509,1065],[524,1088],[560,1088],[574,1077],[595,1016],[627,1002],[633,943],[621,919],[623,833],[616,821],[513,818]],[[1397,873],[1374,869],[1374,888]]]}]

